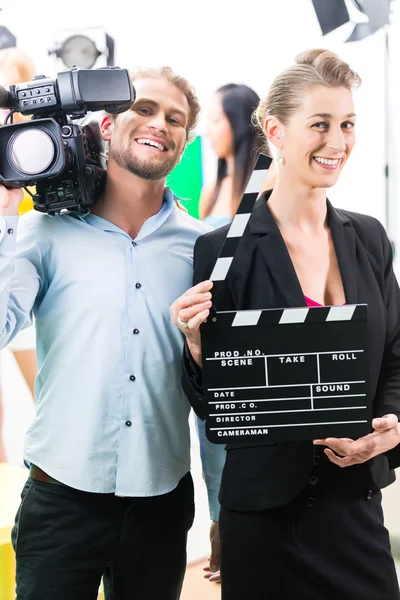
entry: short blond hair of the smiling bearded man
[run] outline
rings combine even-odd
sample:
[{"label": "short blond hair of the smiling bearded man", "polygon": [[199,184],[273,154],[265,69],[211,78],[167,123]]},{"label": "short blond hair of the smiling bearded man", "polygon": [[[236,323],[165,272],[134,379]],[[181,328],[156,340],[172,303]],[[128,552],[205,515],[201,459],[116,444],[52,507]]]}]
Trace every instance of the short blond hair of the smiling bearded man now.
[{"label": "short blond hair of the smiling bearded man", "polygon": [[177,73],[174,73],[171,67],[136,68],[131,71],[131,77],[133,85],[135,85],[135,81],[138,79],[164,79],[185,94],[189,104],[189,120],[186,126],[186,139],[187,141],[193,140],[195,137],[194,130],[200,112],[200,104],[197,99],[196,91],[189,81]]}]

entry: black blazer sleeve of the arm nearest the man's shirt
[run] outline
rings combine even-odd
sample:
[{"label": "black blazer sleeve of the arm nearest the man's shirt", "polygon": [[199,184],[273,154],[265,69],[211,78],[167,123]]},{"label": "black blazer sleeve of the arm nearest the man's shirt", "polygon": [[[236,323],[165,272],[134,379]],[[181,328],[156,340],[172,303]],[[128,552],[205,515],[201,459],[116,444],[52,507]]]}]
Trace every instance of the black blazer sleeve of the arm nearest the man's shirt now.
[{"label": "black blazer sleeve of the arm nearest the man's shirt", "polygon": [[[224,239],[225,236],[221,236],[221,244]],[[202,235],[197,239],[193,258],[193,285],[210,278],[218,255],[219,247],[212,242],[209,234]],[[182,359],[182,387],[194,412],[204,421],[205,402],[202,370],[193,360],[186,342]]]}]

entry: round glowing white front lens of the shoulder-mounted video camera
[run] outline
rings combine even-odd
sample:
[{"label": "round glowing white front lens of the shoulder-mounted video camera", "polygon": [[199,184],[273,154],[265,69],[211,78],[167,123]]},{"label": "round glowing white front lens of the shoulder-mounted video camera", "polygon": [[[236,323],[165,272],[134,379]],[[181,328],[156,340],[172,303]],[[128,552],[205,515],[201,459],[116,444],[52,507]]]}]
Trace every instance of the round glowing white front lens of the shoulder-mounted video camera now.
[{"label": "round glowing white front lens of the shoulder-mounted video camera", "polygon": [[29,127],[19,130],[9,142],[7,153],[13,167],[20,173],[43,173],[55,158],[53,139],[43,129]]}]

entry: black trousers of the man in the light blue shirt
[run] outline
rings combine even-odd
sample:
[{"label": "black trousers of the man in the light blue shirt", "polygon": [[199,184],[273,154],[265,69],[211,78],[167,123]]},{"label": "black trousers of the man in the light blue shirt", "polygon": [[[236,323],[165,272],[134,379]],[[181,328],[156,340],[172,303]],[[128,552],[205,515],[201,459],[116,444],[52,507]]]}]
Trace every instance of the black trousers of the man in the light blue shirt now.
[{"label": "black trousers of the man in the light blue shirt", "polygon": [[172,492],[119,498],[28,479],[12,531],[17,600],[178,600],[194,518],[190,473]]}]

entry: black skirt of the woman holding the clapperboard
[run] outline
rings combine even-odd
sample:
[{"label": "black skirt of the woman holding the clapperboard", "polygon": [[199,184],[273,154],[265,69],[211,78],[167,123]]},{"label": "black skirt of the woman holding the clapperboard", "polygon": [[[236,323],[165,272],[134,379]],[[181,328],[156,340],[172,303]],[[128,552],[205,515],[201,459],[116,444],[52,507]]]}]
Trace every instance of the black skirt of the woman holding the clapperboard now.
[{"label": "black skirt of the woman holding the clapperboard", "polygon": [[399,600],[379,490],[318,449],[306,488],[262,512],[222,507],[222,600]]}]

